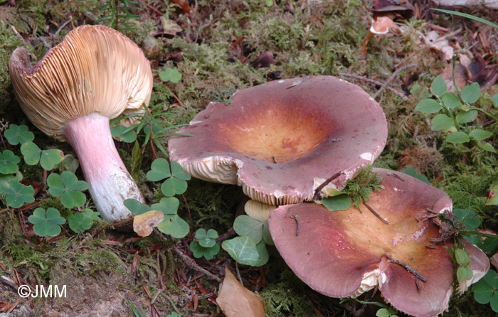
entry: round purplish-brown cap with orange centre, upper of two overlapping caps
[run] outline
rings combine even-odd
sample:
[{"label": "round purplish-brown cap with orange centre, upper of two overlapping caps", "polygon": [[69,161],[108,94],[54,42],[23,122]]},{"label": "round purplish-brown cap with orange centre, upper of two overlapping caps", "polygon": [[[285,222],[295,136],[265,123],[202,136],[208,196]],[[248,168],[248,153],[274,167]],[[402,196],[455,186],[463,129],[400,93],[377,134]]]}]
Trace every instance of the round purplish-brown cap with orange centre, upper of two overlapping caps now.
[{"label": "round purplish-brown cap with orange centre, upper of two overlapping caps", "polygon": [[208,104],[168,141],[170,158],[196,178],[238,184],[254,200],[282,205],[341,187],[381,153],[381,107],[360,87],[332,76],[267,82]]}]

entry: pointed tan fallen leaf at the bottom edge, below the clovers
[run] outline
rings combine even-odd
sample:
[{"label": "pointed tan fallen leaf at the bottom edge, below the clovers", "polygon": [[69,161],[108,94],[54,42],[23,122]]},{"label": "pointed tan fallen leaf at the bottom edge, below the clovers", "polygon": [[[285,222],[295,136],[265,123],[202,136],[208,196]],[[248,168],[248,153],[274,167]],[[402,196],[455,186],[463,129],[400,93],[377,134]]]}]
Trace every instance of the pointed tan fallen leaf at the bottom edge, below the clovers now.
[{"label": "pointed tan fallen leaf at the bottom edge, below the clovers", "polygon": [[216,303],[227,317],[265,317],[263,299],[242,286],[228,266]]}]

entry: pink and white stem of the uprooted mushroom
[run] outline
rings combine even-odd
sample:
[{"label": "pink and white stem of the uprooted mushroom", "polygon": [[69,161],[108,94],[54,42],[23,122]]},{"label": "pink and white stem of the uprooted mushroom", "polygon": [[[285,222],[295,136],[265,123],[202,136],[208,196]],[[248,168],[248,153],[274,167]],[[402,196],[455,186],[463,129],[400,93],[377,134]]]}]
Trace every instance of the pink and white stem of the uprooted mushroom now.
[{"label": "pink and white stem of the uprooted mushroom", "polygon": [[144,198],[117,153],[109,118],[93,113],[73,119],[63,134],[78,155],[100,215],[112,222],[132,217],[123,201],[134,198],[144,203]]}]

